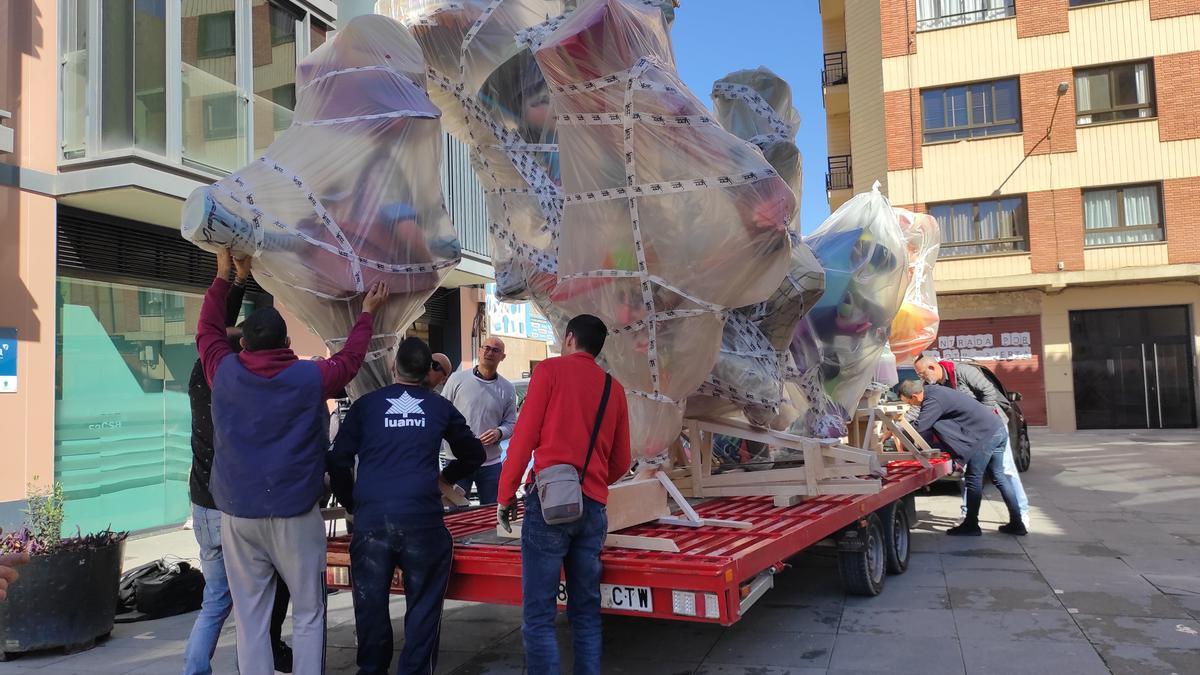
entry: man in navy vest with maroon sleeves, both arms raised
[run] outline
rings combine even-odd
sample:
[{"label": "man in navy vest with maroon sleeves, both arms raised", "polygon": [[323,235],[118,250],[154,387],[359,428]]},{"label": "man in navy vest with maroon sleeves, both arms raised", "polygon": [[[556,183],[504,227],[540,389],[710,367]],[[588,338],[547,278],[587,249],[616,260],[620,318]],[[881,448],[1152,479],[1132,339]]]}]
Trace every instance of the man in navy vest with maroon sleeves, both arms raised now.
[{"label": "man in navy vest with maroon sleeves, both arms raised", "polygon": [[221,510],[221,548],[238,619],[238,669],[275,671],[269,626],[275,575],[292,591],[294,671],[325,668],[325,527],[317,501],[324,490],[325,400],[358,374],[372,334],[372,313],[388,298],[377,283],[341,352],[300,360],[287,324],[274,307],[242,322],[242,351],[226,341],[229,269],[250,274],[251,259],[217,256],[200,307],[196,345],[212,388],[212,474],[209,486]]}]

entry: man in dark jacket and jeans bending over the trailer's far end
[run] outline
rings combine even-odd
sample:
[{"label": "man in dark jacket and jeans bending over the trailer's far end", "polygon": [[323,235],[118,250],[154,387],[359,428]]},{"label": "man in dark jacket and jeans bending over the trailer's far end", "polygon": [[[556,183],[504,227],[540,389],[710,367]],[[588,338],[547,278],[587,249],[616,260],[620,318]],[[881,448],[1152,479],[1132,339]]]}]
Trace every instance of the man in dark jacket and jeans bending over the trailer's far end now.
[{"label": "man in dark jacket and jeans bending over the trailer's far end", "polygon": [[955,527],[946,531],[952,536],[978,537],[979,506],[983,501],[983,476],[991,473],[991,480],[1008,507],[1008,524],[1000,531],[1007,534],[1026,534],[1021,522],[1021,510],[1012,483],[1004,474],[1004,452],[1008,449],[1008,431],[1004,423],[991,408],[972,396],[949,387],[925,387],[916,380],[900,383],[900,400],[919,407],[917,431],[931,438],[934,432],[942,447],[961,461],[967,489],[967,514]]}]

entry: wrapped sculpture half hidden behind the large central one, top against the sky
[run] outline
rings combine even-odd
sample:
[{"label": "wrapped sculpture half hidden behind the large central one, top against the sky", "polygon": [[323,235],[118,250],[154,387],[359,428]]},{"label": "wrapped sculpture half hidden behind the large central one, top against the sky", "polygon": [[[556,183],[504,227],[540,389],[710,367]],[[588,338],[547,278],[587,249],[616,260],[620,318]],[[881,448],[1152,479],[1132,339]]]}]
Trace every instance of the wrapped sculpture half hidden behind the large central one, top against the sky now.
[{"label": "wrapped sculpture half hidden behind the large central one, top against the sky", "polygon": [[[757,145],[799,196],[803,174],[796,132],[800,115],[787,83],[766,67],[737,71],[713,84],[713,103],[721,126]],[[794,420],[792,408],[784,406],[784,378],[794,370],[788,347],[800,317],[824,288],[824,270],[799,237],[798,205],[788,227],[792,259],[787,275],[766,301],[730,312],[720,356],[700,393],[689,399],[688,414],[740,410],[750,423],[775,429]]]}]

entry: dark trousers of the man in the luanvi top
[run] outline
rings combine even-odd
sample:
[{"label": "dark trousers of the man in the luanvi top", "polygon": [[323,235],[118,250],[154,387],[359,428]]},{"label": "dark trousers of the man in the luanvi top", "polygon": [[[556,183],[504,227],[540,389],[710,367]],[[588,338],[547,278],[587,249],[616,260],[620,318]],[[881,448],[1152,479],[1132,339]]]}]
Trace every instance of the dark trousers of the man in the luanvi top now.
[{"label": "dark trousers of the man in the luanvi top", "polygon": [[401,675],[433,673],[442,638],[442,605],[450,583],[454,540],[442,527],[406,530],[398,524],[358,528],[350,539],[354,625],[359,634],[359,675],[388,673],[391,665],[391,579],[400,568],[404,585],[404,649]]}]

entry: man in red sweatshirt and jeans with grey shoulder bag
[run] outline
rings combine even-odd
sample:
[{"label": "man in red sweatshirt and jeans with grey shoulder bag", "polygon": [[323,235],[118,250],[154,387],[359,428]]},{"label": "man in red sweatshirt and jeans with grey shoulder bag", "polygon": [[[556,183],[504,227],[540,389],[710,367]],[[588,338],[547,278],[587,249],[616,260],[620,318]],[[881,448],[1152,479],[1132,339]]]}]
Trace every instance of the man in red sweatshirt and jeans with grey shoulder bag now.
[{"label": "man in red sweatshirt and jeans with grey shoulder bag", "polygon": [[[547,525],[538,491],[526,489],[521,526],[522,638],[530,675],[557,675],[554,639],[558,579],[566,571],[566,614],[575,647],[575,675],[600,673],[600,549],[608,533],[608,485],[629,471],[629,410],[625,389],[616,380],[604,417],[596,417],[605,392],[605,372],[596,365],[608,329],[592,315],[566,324],[563,356],[538,364],[500,471],[500,525],[516,516],[516,491],[529,458],[533,472],[558,464],[574,465],[583,486],[583,516]],[[595,446],[587,461],[593,428]],[[584,471],[584,462],[587,470]]]}]

